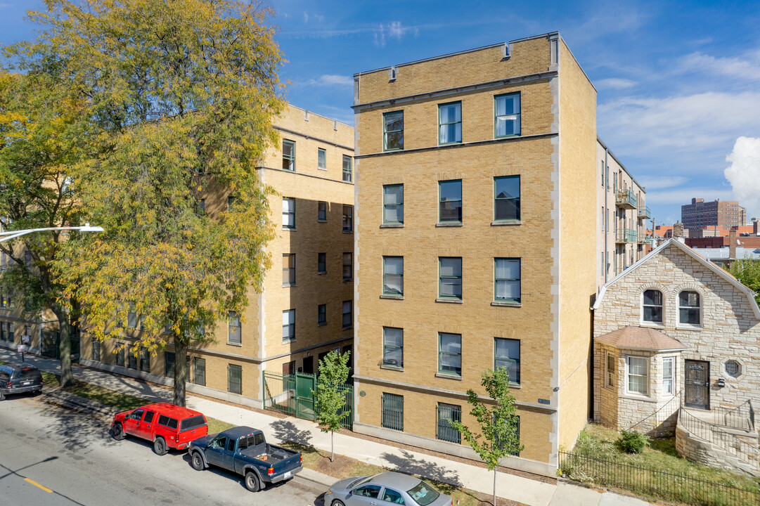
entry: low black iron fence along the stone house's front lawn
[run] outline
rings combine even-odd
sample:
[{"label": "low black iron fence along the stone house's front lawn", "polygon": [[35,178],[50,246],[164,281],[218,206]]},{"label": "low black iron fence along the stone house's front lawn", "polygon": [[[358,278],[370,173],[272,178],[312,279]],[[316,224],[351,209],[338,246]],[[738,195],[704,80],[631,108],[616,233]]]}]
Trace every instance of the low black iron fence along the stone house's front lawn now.
[{"label": "low black iron fence along the stone house's front lawn", "polygon": [[760,486],[756,490],[739,489],[722,483],[563,451],[559,452],[559,470],[565,478],[623,489],[649,499],[703,506],[760,504]]}]

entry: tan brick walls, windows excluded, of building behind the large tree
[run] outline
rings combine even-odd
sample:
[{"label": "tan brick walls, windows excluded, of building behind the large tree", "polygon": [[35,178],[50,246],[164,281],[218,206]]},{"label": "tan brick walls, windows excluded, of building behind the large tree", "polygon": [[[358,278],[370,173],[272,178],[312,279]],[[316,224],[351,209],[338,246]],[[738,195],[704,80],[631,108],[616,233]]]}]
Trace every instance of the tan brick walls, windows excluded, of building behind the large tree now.
[{"label": "tan brick walls, windows excluded, of building behind the large tree", "polygon": [[[295,362],[294,369],[318,369],[318,357],[334,348],[353,346],[353,329],[342,324],[344,301],[353,299],[353,279],[343,278],[344,252],[353,254],[352,231],[344,232],[344,204],[353,209],[353,127],[289,106],[274,127],[280,144],[268,150],[257,168],[261,184],[277,192],[269,198],[271,220],[277,235],[267,245],[272,267],[261,294],[251,292],[249,305],[240,315],[240,343],[228,342],[226,322],[217,328],[217,342],[191,347],[188,391],[200,391],[233,402],[261,407],[261,375],[264,370],[281,374],[283,365]],[[283,169],[282,140],[295,146],[293,170]],[[318,150],[325,152],[325,166],[318,163]],[[344,176],[344,157],[350,162],[350,176]],[[347,181],[344,179],[348,179]],[[229,192],[212,188],[205,196],[205,210],[212,216],[226,210]],[[283,226],[283,198],[293,199],[294,227]],[[325,203],[325,220],[318,219],[319,203]],[[318,273],[318,254],[325,253],[326,272]],[[295,255],[295,281],[283,283],[283,255]],[[318,305],[326,305],[326,324],[318,323]],[[295,340],[283,340],[283,311],[295,310]],[[353,319],[353,317],[352,317]],[[132,330],[125,330],[129,335]],[[128,339],[117,340],[128,343]],[[92,362],[91,343],[83,343],[87,363],[126,372],[164,378],[163,353],[150,359],[150,372],[138,361],[135,371],[116,365],[113,341],[103,343],[100,362]],[[167,351],[173,351],[169,346]],[[205,360],[205,385],[195,381],[195,358]],[[242,394],[228,393],[228,367],[242,368]]]}]

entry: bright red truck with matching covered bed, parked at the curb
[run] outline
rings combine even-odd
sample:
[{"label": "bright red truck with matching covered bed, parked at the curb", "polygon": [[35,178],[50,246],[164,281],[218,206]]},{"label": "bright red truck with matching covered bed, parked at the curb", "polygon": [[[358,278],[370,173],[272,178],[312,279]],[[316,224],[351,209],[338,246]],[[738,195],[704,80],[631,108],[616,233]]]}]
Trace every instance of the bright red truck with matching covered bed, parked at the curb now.
[{"label": "bright red truck with matching covered bed, parked at the curb", "polygon": [[121,441],[126,435],[153,441],[153,451],[166,455],[169,448],[184,450],[190,441],[208,434],[203,413],[169,403],[155,403],[119,411],[111,422],[111,435]]}]

